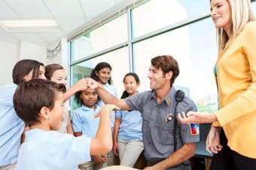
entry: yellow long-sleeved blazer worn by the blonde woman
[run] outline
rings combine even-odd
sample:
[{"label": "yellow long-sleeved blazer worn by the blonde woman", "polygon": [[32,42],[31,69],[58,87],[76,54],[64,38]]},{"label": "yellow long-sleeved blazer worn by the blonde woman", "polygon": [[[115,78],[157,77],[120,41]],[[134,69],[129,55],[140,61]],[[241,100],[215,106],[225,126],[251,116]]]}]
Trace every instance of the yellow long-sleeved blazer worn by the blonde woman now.
[{"label": "yellow long-sleeved blazer worn by the blonde woman", "polygon": [[227,145],[256,159],[256,21],[218,56],[217,84],[220,110],[215,112],[227,136]]}]

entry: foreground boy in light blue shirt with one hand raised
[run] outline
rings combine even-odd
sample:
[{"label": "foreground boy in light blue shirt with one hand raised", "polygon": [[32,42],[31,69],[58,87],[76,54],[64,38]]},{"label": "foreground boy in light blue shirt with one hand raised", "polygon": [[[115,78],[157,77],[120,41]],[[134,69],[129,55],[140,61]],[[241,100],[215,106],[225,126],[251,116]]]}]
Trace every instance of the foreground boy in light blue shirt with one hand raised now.
[{"label": "foreground boy in light blue shirt with one hand raised", "polygon": [[26,141],[21,145],[17,170],[78,169],[78,164],[90,160],[90,155],[111,149],[109,112],[117,109],[106,105],[99,112],[99,130],[95,138],[61,134],[59,126],[64,114],[65,85],[50,80],[32,79],[23,82],[14,94],[14,109],[29,125]]}]

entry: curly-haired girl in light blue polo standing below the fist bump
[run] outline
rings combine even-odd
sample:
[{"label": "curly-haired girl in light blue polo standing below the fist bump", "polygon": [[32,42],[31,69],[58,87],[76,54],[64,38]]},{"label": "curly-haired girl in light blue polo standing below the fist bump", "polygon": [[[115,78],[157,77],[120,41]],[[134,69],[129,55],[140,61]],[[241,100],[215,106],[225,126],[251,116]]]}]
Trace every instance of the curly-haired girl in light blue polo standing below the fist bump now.
[{"label": "curly-haired girl in light blue polo standing below the fist bump", "polygon": [[[73,112],[72,127],[75,136],[95,137],[99,127],[99,118],[93,118],[99,112],[99,97],[96,90],[87,88],[75,94],[75,101],[81,107]],[[94,155],[92,161],[79,165],[82,170],[97,170],[108,166],[105,154]]]}]

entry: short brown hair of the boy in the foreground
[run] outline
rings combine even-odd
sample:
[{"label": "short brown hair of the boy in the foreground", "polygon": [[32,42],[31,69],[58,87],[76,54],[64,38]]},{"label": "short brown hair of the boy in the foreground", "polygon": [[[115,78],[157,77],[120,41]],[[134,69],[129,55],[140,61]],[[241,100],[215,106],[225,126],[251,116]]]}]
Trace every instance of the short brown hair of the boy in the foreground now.
[{"label": "short brown hair of the boy in the foreground", "polygon": [[41,108],[53,109],[57,92],[65,93],[66,86],[47,79],[23,82],[14,93],[15,112],[26,125],[38,124]]}]

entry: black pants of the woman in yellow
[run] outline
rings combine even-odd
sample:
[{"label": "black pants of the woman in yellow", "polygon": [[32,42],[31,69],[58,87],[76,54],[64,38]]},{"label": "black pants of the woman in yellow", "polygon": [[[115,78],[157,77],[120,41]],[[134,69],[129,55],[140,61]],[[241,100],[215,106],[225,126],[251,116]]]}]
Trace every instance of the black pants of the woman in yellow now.
[{"label": "black pants of the woman in yellow", "polygon": [[[210,170],[255,170],[256,159],[244,157],[227,146],[224,130],[221,130],[220,142],[223,146],[218,154],[212,157]],[[245,144],[246,145],[246,144]],[[251,148],[254,149],[254,148]]]}]

